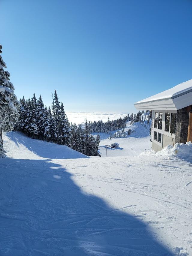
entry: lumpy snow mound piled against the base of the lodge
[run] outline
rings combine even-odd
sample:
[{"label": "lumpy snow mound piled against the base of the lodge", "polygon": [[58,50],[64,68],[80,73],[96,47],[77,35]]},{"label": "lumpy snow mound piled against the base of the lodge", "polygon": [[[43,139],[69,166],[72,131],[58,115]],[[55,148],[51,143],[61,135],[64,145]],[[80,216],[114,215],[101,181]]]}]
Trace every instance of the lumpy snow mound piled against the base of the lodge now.
[{"label": "lumpy snow mound piled against the base of the lodge", "polygon": [[163,156],[165,158],[179,157],[186,161],[190,161],[192,155],[192,143],[191,141],[187,142],[186,144],[176,143],[174,147],[172,145],[168,145],[159,152],[155,152],[154,150],[146,150],[140,155]]}]

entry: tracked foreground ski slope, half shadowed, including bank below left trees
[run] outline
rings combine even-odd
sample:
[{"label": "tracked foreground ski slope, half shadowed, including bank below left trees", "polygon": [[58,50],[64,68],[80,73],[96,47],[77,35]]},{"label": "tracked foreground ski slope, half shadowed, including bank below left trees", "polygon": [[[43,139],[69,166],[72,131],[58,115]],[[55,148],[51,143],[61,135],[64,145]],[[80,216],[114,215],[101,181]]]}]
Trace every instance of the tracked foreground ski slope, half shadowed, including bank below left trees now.
[{"label": "tracked foreground ski slope, half shadowed, including bank below left trees", "polygon": [[4,147],[1,256],[192,255],[191,162],[87,158],[18,132]]}]

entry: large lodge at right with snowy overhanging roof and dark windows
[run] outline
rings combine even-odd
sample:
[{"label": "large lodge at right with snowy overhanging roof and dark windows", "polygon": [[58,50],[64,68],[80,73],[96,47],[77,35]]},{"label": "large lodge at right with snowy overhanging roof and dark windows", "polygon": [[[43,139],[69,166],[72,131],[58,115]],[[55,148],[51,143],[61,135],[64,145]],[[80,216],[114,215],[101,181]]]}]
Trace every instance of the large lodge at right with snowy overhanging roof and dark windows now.
[{"label": "large lodge at right with snowy overhanging roof and dark windows", "polygon": [[[192,80],[138,101],[137,110],[152,110],[152,149],[192,141]],[[172,141],[172,137],[173,141]]]}]

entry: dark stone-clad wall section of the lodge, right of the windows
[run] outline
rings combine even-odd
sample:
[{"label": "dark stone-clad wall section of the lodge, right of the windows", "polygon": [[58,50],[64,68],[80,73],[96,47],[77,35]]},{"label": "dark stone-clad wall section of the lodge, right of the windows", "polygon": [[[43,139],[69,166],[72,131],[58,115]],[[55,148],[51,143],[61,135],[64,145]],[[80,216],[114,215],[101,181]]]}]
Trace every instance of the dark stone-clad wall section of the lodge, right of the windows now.
[{"label": "dark stone-clad wall section of the lodge, right of the windows", "polygon": [[189,107],[177,110],[175,143],[186,143],[189,125]]}]

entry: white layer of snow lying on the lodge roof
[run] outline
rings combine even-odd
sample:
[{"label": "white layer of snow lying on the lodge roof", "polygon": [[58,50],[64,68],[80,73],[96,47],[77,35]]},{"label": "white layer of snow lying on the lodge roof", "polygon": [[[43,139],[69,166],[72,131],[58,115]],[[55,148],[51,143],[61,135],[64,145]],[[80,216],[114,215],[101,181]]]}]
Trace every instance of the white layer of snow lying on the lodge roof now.
[{"label": "white layer of snow lying on the lodge roof", "polygon": [[160,93],[155,94],[149,98],[138,101],[135,104],[173,98],[173,97],[176,97],[177,95],[180,95],[180,94],[190,91],[190,90],[192,90],[192,79],[188,80],[186,82],[180,83],[180,84],[174,86],[173,88],[168,89],[164,92],[160,92]]}]

